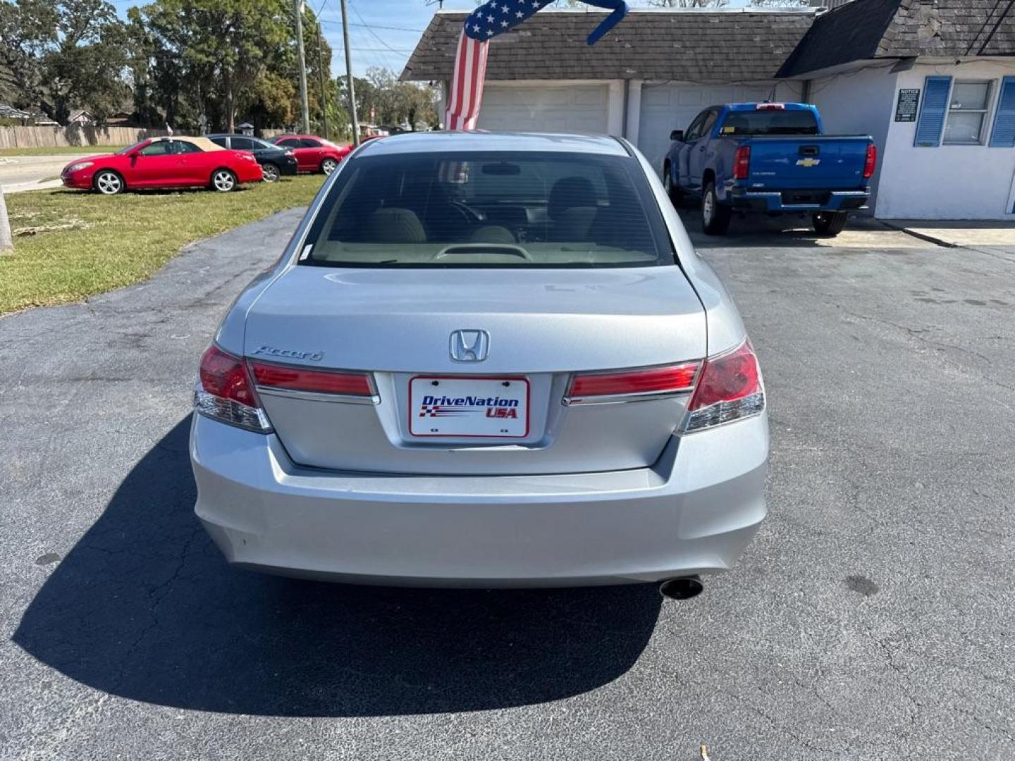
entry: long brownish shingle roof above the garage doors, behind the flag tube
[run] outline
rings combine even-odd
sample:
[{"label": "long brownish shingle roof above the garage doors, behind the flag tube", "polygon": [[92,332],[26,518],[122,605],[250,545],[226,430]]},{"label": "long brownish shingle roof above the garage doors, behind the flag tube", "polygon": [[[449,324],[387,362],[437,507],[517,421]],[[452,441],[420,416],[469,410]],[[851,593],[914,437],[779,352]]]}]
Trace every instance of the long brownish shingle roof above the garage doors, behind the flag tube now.
[{"label": "long brownish shingle roof above the garage doors, behind the flag tube", "polygon": [[[451,79],[465,13],[437,13],[402,79]],[[631,11],[594,46],[604,13],[542,12],[490,42],[487,80],[771,79],[813,19],[804,12]]]}]

